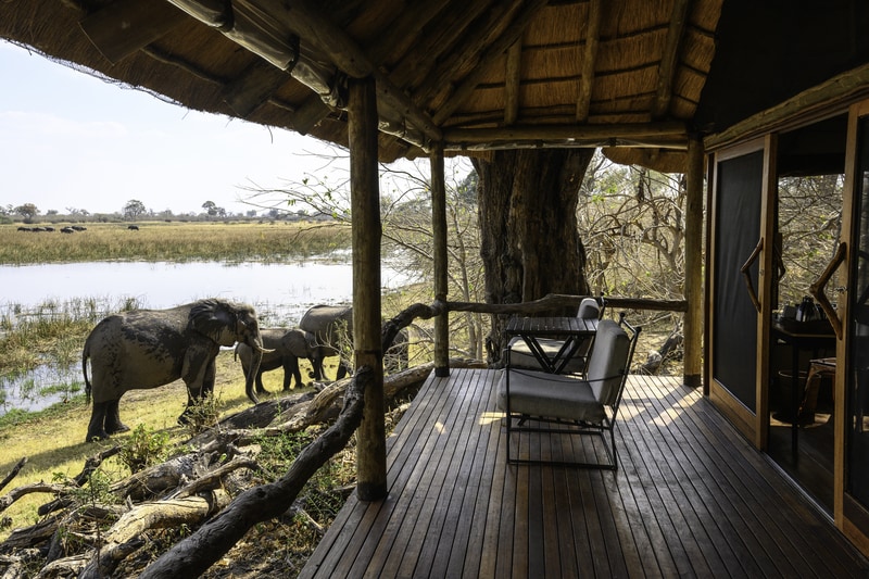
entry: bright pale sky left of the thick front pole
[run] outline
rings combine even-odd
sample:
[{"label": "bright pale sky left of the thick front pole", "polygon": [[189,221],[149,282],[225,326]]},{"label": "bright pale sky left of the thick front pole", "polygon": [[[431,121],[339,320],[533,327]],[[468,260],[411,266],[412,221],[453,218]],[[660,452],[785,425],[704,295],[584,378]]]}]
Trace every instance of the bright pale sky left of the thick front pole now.
[{"label": "bright pale sky left of the thick front pole", "polygon": [[257,207],[243,188],[322,178],[336,169],[316,155],[347,154],[312,137],[169,104],[2,40],[0,78],[3,207],[122,213],[139,200],[179,215],[213,201],[247,213]]}]

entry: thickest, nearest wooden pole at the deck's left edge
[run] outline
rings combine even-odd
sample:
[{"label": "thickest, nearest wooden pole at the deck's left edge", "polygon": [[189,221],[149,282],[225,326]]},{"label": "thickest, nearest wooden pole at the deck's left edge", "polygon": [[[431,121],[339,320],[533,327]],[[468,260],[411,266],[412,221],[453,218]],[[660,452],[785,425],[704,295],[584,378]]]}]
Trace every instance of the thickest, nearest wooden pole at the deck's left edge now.
[{"label": "thickest, nearest wooden pole at the deck's left edge", "polygon": [[387,495],[383,353],[380,342],[380,188],[374,78],[349,79],[348,133],[353,227],[353,341],[356,368],[374,369],[356,435],[361,501]]}]

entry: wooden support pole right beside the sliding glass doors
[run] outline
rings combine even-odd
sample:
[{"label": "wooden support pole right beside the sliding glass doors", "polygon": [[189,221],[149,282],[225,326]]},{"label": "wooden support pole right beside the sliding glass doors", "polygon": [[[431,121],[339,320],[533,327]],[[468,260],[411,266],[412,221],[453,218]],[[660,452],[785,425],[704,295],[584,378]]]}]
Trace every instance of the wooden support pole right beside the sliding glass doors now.
[{"label": "wooden support pole right beside the sliding glass doors", "polygon": [[703,141],[688,141],[685,200],[684,385],[701,386],[703,373]]}]

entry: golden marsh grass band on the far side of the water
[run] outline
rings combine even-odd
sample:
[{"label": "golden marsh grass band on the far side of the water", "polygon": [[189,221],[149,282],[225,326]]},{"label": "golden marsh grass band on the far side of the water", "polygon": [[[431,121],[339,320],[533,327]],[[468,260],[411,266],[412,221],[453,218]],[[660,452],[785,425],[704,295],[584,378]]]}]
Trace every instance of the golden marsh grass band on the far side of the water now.
[{"label": "golden marsh grass band on the far side of the water", "polygon": [[[0,264],[92,261],[224,261],[265,263],[350,248],[350,228],[322,223],[88,224],[86,231],[18,231],[0,225]],[[59,226],[60,227],[60,226]]]}]

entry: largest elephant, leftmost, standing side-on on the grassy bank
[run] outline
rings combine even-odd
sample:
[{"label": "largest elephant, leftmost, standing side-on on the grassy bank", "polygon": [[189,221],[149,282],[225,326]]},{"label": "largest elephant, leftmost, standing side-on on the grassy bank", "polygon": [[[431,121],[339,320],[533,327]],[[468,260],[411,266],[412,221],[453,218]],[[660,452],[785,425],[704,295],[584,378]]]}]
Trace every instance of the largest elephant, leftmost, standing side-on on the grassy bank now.
[{"label": "largest elephant, leftmost, standing side-on on the grassy bank", "polygon": [[[156,388],[181,378],[190,407],[214,389],[215,357],[221,347],[243,342],[255,355],[244,390],[255,404],[253,379],[264,350],[256,313],[247,304],[200,300],[169,310],[137,310],[106,317],[91,330],[81,353],[85,393],[93,398],[86,441],[129,428],[121,421],[118,402],[127,390]],[[88,379],[88,360],[92,383]]]}]

